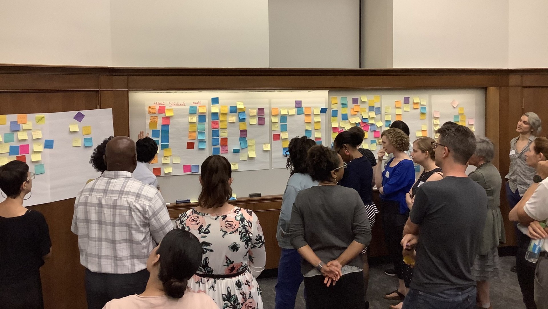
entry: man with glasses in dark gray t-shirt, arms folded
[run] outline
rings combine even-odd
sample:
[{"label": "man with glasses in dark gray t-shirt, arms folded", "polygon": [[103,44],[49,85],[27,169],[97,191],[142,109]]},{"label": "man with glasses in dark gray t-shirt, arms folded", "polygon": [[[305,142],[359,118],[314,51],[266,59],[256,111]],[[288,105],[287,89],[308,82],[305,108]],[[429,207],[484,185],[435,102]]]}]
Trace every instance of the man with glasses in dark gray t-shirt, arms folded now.
[{"label": "man with glasses in dark gray t-shirt, arms folded", "polygon": [[437,133],[433,146],[444,178],[420,186],[403,231],[404,255],[416,249],[403,309],[476,305],[471,267],[487,216],[485,190],[465,174],[476,139],[463,125],[444,125]]}]

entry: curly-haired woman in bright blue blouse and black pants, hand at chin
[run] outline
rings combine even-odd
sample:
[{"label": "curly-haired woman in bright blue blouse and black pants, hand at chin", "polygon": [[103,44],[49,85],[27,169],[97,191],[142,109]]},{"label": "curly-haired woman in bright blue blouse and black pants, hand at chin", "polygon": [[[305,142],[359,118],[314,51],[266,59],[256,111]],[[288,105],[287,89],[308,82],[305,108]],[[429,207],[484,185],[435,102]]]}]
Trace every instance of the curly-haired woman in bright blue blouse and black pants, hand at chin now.
[{"label": "curly-haired woman in bright blue blouse and black pants, hand at chin", "polygon": [[[409,136],[397,128],[390,128],[381,134],[383,149],[377,156],[375,184],[379,188],[381,197],[381,212],[383,213],[383,229],[386,248],[399,279],[399,287],[386,294],[385,299],[402,300],[406,293],[402,274],[403,227],[409,217],[409,208],[406,203],[406,193],[415,182],[415,168],[413,161],[405,151],[409,149]],[[383,158],[386,153],[392,153],[393,158],[382,171]],[[381,173],[382,172],[382,173]]]}]

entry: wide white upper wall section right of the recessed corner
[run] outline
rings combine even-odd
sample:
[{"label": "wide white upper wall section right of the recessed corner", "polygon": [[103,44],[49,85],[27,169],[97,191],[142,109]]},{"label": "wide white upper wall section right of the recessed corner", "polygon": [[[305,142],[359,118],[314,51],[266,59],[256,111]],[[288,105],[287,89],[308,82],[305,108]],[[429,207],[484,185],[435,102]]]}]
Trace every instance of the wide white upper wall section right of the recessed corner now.
[{"label": "wide white upper wall section right of the recessed corner", "polygon": [[507,0],[393,0],[393,67],[507,67],[508,16]]}]

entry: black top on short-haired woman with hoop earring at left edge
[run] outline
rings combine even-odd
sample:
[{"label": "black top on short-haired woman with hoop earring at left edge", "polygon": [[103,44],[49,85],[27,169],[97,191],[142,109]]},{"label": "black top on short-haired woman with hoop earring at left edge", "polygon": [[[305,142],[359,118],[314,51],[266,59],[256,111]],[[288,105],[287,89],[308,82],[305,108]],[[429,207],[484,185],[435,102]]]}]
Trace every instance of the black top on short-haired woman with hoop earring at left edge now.
[{"label": "black top on short-haired woman with hoop earring at left edge", "polygon": [[42,256],[50,247],[48,224],[39,211],[29,209],[13,218],[0,216],[0,284],[39,276]]}]

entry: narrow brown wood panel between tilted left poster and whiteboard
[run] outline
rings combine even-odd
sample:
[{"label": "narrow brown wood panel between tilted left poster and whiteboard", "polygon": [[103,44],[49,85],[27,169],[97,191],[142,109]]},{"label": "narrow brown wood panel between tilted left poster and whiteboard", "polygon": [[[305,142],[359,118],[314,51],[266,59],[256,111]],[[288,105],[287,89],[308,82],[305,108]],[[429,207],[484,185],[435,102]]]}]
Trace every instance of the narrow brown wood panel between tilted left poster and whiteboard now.
[{"label": "narrow brown wood panel between tilted left poster and whiteboard", "polygon": [[[100,108],[112,108],[114,135],[129,136],[128,90],[101,90]],[[108,138],[109,136],[105,136]]]}]

